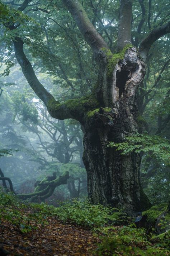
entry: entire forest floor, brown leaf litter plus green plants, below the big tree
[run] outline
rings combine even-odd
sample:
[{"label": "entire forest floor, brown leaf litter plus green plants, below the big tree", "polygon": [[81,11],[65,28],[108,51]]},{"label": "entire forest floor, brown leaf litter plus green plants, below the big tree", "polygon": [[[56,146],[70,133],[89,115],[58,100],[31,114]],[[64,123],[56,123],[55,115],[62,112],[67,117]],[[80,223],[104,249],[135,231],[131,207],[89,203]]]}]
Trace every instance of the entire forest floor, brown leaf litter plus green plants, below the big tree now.
[{"label": "entire forest floor, brown leaf litter plus green plants, below the big tree", "polygon": [[[164,205],[165,207],[165,205]],[[152,209],[152,208],[151,208]],[[162,209],[162,208],[161,208]],[[158,211],[150,210],[151,219]],[[145,212],[146,215],[147,212]],[[165,226],[167,222],[162,221]],[[0,192],[1,255],[169,255],[170,233],[137,228],[123,209],[88,201],[21,202]]]}]

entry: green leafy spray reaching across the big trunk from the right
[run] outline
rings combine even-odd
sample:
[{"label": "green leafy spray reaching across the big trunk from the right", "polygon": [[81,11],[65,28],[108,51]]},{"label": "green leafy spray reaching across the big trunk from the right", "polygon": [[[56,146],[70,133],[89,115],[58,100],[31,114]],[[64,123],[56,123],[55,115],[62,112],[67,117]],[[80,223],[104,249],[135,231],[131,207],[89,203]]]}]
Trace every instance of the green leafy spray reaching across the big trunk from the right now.
[{"label": "green leafy spray reaching across the big trunk from the right", "polygon": [[116,150],[122,150],[122,155],[135,153],[147,153],[150,156],[160,159],[161,162],[170,164],[170,143],[169,140],[156,135],[134,134],[127,136],[124,142],[110,142],[110,147],[116,147]]}]

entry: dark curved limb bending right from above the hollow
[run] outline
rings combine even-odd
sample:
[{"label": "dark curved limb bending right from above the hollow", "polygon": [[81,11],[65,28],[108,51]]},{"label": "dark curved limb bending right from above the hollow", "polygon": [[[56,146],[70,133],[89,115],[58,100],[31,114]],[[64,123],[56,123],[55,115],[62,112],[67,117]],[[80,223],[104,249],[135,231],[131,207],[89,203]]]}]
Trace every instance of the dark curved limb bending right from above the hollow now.
[{"label": "dark curved limb bending right from above the hollow", "polygon": [[148,52],[151,48],[151,45],[157,39],[159,39],[160,37],[162,37],[168,33],[170,33],[170,21],[161,27],[154,28],[150,32],[150,34],[142,40],[140,47],[139,47],[139,52],[140,52],[142,58],[144,59],[144,61],[146,61],[146,58],[148,56]]}]

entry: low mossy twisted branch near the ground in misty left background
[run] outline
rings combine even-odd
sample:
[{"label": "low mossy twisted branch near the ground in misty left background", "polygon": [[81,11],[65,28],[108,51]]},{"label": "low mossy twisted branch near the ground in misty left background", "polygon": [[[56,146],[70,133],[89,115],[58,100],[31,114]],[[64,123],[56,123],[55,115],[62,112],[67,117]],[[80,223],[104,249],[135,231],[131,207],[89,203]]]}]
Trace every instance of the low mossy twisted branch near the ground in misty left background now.
[{"label": "low mossy twisted branch near the ground in misty left background", "polygon": [[[3,181],[3,186],[5,187],[5,189],[7,189],[5,183],[5,181],[7,180],[9,182],[10,191],[16,195],[10,178],[4,177],[2,171],[0,172],[0,175],[3,176],[0,177],[0,180]],[[67,179],[69,179],[68,171],[58,178],[56,178],[56,172],[54,172],[53,176],[47,176],[42,181],[37,181],[33,193],[18,194],[16,196],[20,199],[30,199],[31,202],[44,201],[48,197],[51,197],[56,187],[62,184],[67,184]]]}]

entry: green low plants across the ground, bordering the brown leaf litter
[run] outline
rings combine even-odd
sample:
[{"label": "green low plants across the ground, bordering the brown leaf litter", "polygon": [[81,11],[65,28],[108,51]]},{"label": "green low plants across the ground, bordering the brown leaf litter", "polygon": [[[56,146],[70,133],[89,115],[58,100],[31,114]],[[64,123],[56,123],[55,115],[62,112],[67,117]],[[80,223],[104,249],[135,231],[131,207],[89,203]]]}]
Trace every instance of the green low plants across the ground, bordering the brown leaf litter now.
[{"label": "green low plants across the ground, bordering the brown leaf litter", "polygon": [[[161,210],[164,209],[162,205]],[[153,207],[151,208],[153,209]],[[155,208],[154,208],[155,209]],[[48,206],[45,203],[23,204],[11,194],[0,191],[0,221],[9,221],[16,230],[28,233],[33,230],[41,232],[48,224],[48,217],[53,216],[63,222],[71,222],[93,228],[94,235],[100,237],[95,255],[168,255],[169,231],[161,235],[146,234],[143,228],[134,224],[117,226],[123,220],[123,211],[101,205],[91,205],[88,201],[62,203],[60,207]],[[111,225],[107,225],[110,223]]]}]

